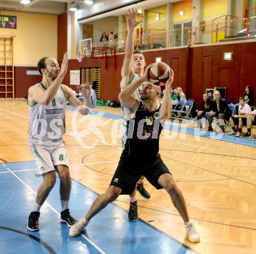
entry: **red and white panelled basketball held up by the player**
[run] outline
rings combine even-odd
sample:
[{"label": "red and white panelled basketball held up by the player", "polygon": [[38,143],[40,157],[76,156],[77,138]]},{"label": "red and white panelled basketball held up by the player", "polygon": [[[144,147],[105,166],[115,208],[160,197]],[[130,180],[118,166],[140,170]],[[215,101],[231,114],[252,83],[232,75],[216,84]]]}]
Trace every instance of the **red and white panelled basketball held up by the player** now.
[{"label": "red and white panelled basketball held up by the player", "polygon": [[165,89],[165,82],[169,78],[168,71],[170,67],[168,64],[161,62],[154,63],[148,71],[148,80],[154,85],[161,86],[161,90]]}]

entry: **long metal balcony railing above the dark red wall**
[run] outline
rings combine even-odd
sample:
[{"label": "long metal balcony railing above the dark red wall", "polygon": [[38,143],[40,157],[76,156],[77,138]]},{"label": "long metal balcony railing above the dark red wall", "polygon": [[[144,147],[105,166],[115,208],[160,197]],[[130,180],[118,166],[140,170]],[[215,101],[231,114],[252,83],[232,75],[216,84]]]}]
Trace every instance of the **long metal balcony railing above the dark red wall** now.
[{"label": "long metal balcony railing above the dark red wall", "polygon": [[[116,53],[122,53],[125,52],[126,36],[127,31],[119,33],[118,39],[93,42],[91,46],[93,48],[115,48]],[[134,31],[134,49],[163,49],[253,38],[256,39],[256,16],[250,17],[250,19],[222,20],[218,23],[211,22],[196,27],[176,28],[169,31],[138,28]],[[81,49],[79,51],[81,52]]]}]

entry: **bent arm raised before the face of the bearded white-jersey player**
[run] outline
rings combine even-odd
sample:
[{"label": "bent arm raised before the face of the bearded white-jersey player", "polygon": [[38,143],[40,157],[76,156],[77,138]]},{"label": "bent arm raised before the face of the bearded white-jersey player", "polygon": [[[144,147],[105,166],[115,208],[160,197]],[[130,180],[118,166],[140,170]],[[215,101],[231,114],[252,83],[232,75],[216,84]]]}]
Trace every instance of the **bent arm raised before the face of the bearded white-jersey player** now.
[{"label": "bent arm raised before the face of the bearded white-jersey player", "polygon": [[[56,61],[56,60],[55,60]],[[62,64],[61,64],[61,70],[59,71],[58,76],[54,79],[52,84],[45,90],[45,92],[42,92],[40,88],[37,86],[31,86],[29,89],[29,104],[34,103],[40,103],[40,104],[49,104],[52,98],[56,95],[56,92],[59,89],[59,86],[61,85],[63,78],[65,77],[67,73],[67,53],[64,54]],[[58,64],[58,63],[57,63]],[[56,66],[56,70],[59,70],[59,67]],[[47,71],[45,68],[42,68],[42,75],[44,80],[44,71]]]}]

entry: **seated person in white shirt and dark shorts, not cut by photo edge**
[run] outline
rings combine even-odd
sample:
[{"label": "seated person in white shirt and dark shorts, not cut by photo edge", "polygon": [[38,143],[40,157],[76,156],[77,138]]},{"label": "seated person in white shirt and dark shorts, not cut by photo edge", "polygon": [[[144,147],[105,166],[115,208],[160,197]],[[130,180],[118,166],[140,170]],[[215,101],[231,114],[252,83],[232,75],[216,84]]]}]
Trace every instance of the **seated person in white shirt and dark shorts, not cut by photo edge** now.
[{"label": "seated person in white shirt and dark shorts, not cut by photo edge", "polygon": [[[238,109],[238,115],[234,115],[233,117],[230,117],[230,124],[232,127],[232,130],[228,133],[229,135],[236,135],[236,137],[241,136],[241,130],[243,125],[247,125],[247,113],[251,112],[251,107],[244,101],[244,97],[239,98],[239,109]],[[238,125],[239,130],[236,133],[236,125]],[[249,135],[250,134],[250,135]],[[246,135],[248,137],[251,136],[251,128],[248,128]]]}]

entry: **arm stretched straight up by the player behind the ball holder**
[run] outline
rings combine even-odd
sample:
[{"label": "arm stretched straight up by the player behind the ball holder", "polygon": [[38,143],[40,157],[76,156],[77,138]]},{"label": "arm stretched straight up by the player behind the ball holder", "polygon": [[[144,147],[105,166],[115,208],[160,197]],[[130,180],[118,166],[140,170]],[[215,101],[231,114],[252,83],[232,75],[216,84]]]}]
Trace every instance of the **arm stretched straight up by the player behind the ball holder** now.
[{"label": "arm stretched straight up by the player behind the ball holder", "polygon": [[[121,71],[122,81],[121,88],[124,88],[129,84],[129,78],[131,73],[131,57],[133,57],[134,43],[133,43],[133,32],[134,28],[141,23],[141,21],[136,20],[137,10],[131,9],[125,14],[128,34],[125,43],[125,59],[123,60],[123,67]],[[126,80],[127,79],[127,80]]]}]

